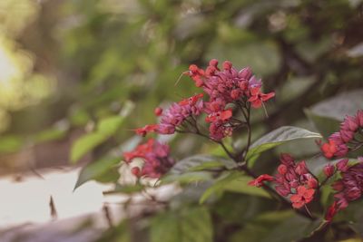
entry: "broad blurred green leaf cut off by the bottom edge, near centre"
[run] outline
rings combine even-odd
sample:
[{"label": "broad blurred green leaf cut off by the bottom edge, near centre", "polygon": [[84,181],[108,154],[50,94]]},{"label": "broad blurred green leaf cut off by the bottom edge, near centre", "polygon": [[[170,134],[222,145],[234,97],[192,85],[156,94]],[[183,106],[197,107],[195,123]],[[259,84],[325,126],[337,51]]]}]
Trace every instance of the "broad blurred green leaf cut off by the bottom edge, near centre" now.
[{"label": "broad blurred green leaf cut off by the bottom edge, near centre", "polygon": [[152,219],[151,242],[210,242],[211,216],[206,208],[183,208]]}]

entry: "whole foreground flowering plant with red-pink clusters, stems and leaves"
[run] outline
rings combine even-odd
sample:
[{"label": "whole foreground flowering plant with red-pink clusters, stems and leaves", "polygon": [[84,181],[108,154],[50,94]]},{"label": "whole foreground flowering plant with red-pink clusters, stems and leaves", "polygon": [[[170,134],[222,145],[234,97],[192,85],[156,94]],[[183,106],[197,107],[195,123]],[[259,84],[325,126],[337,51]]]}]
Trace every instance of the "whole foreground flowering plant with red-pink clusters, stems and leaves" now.
[{"label": "whole foreground flowering plant with red-pink clusters, stems and leaves", "polygon": [[[208,208],[218,206],[232,191],[257,197],[259,202],[267,199],[268,205],[260,209],[278,209],[281,214],[282,211],[289,212],[288,221],[300,223],[303,229],[292,237],[313,239],[334,224],[339,211],[344,212],[350,203],[361,198],[363,159],[355,152],[363,147],[362,110],[354,116],[346,116],[340,130],[331,134],[326,142],[321,140],[318,132],[293,126],[282,126],[257,139],[253,136],[252,123],[260,117],[268,118],[268,102],[274,98],[275,92],[263,92],[263,82],[249,67],[238,70],[228,61],[219,67],[218,61],[213,59],[205,70],[192,64],[183,75],[190,77],[201,92],[168,107],[156,107],[154,114],[158,121],[133,130],[142,138],[148,137],[133,150],[123,152],[124,167],[129,169],[136,186],[130,189],[130,183],[117,184],[112,191],[141,192],[150,199],[157,206],[154,219],[158,221],[152,223],[152,231],[170,229],[171,225],[163,225],[158,219],[173,219],[168,213],[172,211],[182,221],[196,219],[195,233],[208,225],[210,230],[201,234],[197,241],[211,241],[212,217]],[[166,136],[166,140],[171,140],[176,134],[201,137],[217,148],[207,150],[207,154],[184,156],[178,160],[162,139]],[[256,169],[267,164],[269,156],[265,154],[268,150],[292,140],[311,139],[316,140],[319,148],[312,159],[297,160],[293,153],[282,152],[276,171]],[[314,168],[321,162],[324,166]],[[176,193],[172,197],[165,199],[159,198],[157,193],[150,194],[151,188],[170,183],[172,193]],[[190,201],[191,208],[185,211],[180,203],[175,205],[175,202],[186,196],[188,190],[197,190],[197,195]],[[158,212],[159,209],[163,212]],[[283,225],[283,217],[279,215],[274,219]]]}]

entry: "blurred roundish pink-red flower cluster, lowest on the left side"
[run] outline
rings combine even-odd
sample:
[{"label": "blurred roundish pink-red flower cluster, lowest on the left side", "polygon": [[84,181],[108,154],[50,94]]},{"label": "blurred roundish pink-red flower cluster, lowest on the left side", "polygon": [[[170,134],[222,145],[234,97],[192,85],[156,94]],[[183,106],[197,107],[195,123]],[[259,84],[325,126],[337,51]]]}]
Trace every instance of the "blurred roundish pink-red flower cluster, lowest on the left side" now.
[{"label": "blurred roundish pink-red flower cluster, lowest on the left side", "polygon": [[150,139],[146,143],[137,146],[135,150],[124,152],[123,158],[127,163],[135,158],[142,158],[144,161],[142,169],[137,167],[132,169],[133,175],[160,178],[174,164],[174,160],[169,157],[169,153],[168,145]]}]

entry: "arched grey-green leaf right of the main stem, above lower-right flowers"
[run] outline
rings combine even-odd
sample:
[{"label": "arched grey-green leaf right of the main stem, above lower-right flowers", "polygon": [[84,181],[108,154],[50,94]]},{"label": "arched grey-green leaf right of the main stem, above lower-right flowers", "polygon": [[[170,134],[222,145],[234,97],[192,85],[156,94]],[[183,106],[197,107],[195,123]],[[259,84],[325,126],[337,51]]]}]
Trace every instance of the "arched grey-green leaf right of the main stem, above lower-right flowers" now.
[{"label": "arched grey-green leaf right of the main stem, above lower-right flowers", "polygon": [[246,158],[250,160],[252,157],[263,151],[270,150],[291,140],[312,138],[321,138],[321,135],[298,127],[282,126],[275,131],[270,131],[270,133],[264,135],[259,140],[256,140],[250,146],[250,150],[247,153]]}]

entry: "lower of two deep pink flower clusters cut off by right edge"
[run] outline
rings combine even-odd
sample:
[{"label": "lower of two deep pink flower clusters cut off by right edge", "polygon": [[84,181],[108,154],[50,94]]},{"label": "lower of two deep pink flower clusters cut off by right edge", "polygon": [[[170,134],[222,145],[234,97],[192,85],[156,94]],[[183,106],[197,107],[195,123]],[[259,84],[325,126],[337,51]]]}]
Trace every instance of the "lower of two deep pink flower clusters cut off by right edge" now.
[{"label": "lower of two deep pink flower clusters cut off by right edge", "polygon": [[[341,178],[331,185],[337,193],[334,195],[335,201],[329,207],[326,215],[326,219],[329,221],[339,210],[347,208],[349,202],[357,200],[363,195],[363,158],[358,160],[358,163],[351,166],[348,165],[348,159],[340,160],[336,165]],[[328,165],[327,167],[333,166]]]}]

